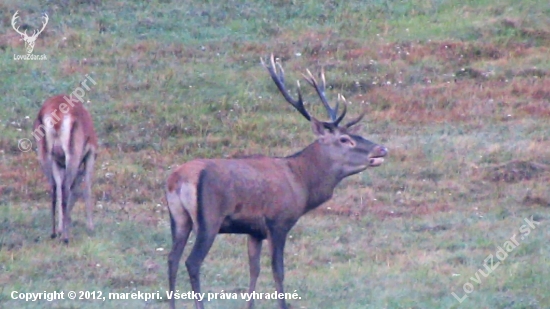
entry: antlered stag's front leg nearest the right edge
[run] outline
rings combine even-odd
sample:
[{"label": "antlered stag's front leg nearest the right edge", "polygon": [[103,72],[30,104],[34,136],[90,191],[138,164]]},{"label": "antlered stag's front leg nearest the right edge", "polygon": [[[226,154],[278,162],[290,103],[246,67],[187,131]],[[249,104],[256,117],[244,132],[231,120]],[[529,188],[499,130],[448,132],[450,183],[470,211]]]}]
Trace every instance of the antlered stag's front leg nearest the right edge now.
[{"label": "antlered stag's front leg nearest the right edge", "polygon": [[[285,280],[284,250],[286,232],[272,230],[270,235],[271,268],[277,294],[284,293],[283,281]],[[278,299],[280,309],[288,309],[284,299]]]}]

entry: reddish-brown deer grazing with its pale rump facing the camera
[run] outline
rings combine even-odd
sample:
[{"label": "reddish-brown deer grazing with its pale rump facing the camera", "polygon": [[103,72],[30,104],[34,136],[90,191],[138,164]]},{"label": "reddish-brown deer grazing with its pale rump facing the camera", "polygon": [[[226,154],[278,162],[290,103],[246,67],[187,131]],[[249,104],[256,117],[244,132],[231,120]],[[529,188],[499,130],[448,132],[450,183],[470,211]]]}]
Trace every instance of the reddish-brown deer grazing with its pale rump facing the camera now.
[{"label": "reddish-brown deer grazing with its pale rump facing the camera", "polygon": [[[97,150],[97,137],[92,118],[84,105],[72,96],[57,95],[47,99],[33,126],[38,141],[38,160],[52,196],[52,238],[58,233],[69,242],[71,209],[80,193],[86,204],[87,226],[93,231],[92,174]],[[84,180],[85,188],[80,192]],[[58,205],[60,204],[60,205]],[[55,209],[58,228],[55,229]]]}]

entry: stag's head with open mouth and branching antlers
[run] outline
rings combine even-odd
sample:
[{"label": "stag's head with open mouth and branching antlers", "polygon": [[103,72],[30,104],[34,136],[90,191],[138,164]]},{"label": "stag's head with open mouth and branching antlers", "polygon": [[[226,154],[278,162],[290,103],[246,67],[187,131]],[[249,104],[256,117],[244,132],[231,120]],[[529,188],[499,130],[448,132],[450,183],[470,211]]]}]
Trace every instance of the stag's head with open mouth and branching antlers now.
[{"label": "stag's head with open mouth and branching antlers", "polygon": [[[304,107],[302,93],[300,91],[300,83],[298,82],[298,99],[295,100],[288,93],[284,83],[284,71],[279,62],[275,63],[273,55],[271,55],[271,64],[266,63],[261,59],[262,65],[268,70],[269,75],[277,85],[277,88],[289,102],[304,118],[311,122],[313,133],[317,136],[320,151],[323,155],[328,156],[332,162],[335,162],[334,167],[337,168],[341,177],[347,177],[365,170],[368,167],[380,166],[384,162],[384,157],[388,154],[386,147],[373,143],[364,137],[357,134],[359,125],[365,113],[362,113],[357,118],[341,124],[346,116],[346,99],[338,94],[338,101],[334,107],[331,107],[325,96],[325,74],[321,72],[321,84],[313,77],[313,74],[307,70],[304,78],[319,95],[323,106],[325,107],[330,121],[320,121],[311,116]],[[343,102],[343,111],[338,115],[339,103]]]}]

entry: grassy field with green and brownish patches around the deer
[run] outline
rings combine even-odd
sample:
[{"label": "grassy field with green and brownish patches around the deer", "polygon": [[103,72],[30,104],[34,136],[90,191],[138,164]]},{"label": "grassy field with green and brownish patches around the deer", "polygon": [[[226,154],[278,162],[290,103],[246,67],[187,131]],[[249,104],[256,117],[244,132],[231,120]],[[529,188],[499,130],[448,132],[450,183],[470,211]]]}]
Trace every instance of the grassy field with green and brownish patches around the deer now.
[{"label": "grassy field with green and brownish patches around the deer", "polygon": [[[301,297],[292,308],[550,308],[550,2],[109,3],[0,3],[0,308],[167,308],[25,302],[12,292],[165,296],[171,169],[196,157],[290,155],[313,141],[260,65],[272,52],[288,83],[324,66],[329,98],[345,95],[350,115],[367,110],[361,133],[389,149],[381,167],[343,181],[291,231],[285,288]],[[28,32],[48,13],[34,49],[47,61],[14,60],[25,53],[10,24],[16,10]],[[86,74],[97,82],[85,98],[100,138],[96,231],[86,232],[78,203],[66,247],[49,238],[36,145],[22,152],[18,141],[33,140],[47,97]],[[490,257],[498,268],[487,275]],[[203,292],[247,285],[246,238],[219,236]],[[178,287],[190,290],[184,267]],[[274,291],[268,250],[257,291]]]}]

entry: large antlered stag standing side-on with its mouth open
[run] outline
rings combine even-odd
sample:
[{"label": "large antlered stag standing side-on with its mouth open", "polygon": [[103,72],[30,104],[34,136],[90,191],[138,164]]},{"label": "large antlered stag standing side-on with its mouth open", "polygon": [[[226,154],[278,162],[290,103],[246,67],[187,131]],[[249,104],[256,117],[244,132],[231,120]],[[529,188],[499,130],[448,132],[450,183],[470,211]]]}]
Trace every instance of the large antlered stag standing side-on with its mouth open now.
[{"label": "large antlered stag standing side-on with its mouth open", "polygon": [[[315,88],[325,106],[330,122],[321,122],[305,109],[298,83],[298,100],[285,88],[280,63],[262,65],[268,70],[286,101],[311,122],[317,140],[302,151],[288,157],[250,156],[241,159],[196,159],[174,170],[166,183],[166,198],[172,230],[172,251],[168,256],[170,292],[174,292],[176,275],[191,230],[195,244],[185,262],[191,287],[200,293],[199,270],[218,233],[248,234],[250,282],[248,292],[255,290],[260,273],[262,241],[268,239],[271,267],[277,293],[283,292],[283,251],[286,236],[298,219],[333,194],[344,178],[367,167],[379,166],[387,149],[355,135],[355,128],[364,113],[345,125],[340,122],[338,104],[331,108],[325,98],[325,77],[319,85],[311,72],[304,75]],[[345,101],[343,97],[341,97]],[[344,102],[345,103],[345,102]],[[357,127],[356,127],[357,128]],[[284,299],[279,308],[286,309]],[[196,308],[203,308],[195,299]],[[253,300],[248,308],[253,307]],[[174,298],[170,308],[175,308]]]}]

